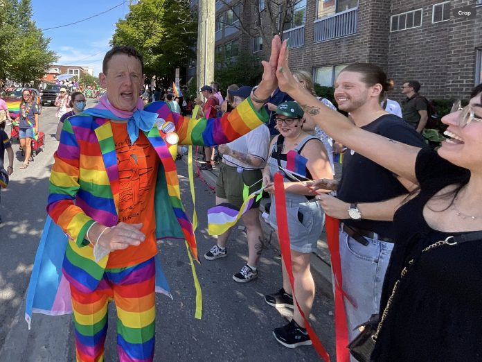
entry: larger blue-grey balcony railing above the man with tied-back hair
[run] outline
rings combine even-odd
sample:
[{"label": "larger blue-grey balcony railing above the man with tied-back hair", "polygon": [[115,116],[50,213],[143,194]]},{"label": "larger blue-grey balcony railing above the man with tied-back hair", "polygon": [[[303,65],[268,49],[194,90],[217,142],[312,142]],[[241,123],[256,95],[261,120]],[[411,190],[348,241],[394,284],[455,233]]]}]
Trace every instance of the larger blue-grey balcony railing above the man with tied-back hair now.
[{"label": "larger blue-grey balcony railing above the man with tied-back hair", "polygon": [[313,42],[324,42],[336,37],[346,37],[357,33],[358,8],[353,8],[330,17],[314,21]]}]

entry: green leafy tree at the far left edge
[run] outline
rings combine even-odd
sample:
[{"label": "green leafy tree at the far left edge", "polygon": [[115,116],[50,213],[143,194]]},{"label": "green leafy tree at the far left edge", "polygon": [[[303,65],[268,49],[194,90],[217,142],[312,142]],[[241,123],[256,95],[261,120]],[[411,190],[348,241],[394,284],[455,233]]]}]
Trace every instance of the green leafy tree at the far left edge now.
[{"label": "green leafy tree at the far left edge", "polygon": [[58,57],[32,20],[30,0],[0,0],[0,78],[22,85],[42,78]]}]

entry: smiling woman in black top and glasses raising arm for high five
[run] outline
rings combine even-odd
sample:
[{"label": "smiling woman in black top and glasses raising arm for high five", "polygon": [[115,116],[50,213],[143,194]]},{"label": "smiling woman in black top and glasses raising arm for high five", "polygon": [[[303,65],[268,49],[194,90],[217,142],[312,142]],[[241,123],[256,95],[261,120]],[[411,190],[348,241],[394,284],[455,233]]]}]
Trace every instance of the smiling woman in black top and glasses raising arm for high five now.
[{"label": "smiling woman in black top and glasses raising arm for high five", "polygon": [[[395,226],[371,360],[481,361],[482,84],[443,117],[447,139],[434,151],[366,132],[323,107],[296,84],[286,44],[278,67],[280,89],[328,135],[418,184],[408,196],[358,204],[362,218]],[[348,218],[349,205],[317,197],[328,215]]]}]

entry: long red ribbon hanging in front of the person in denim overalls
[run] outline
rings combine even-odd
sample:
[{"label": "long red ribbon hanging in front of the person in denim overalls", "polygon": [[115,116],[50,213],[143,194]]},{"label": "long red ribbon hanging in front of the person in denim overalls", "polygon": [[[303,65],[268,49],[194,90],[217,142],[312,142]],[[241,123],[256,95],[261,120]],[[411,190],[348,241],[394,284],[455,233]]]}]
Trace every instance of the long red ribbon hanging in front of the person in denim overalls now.
[{"label": "long red ribbon hanging in front of the person in denim overalls", "polygon": [[[281,256],[285,262],[286,271],[289,276],[289,284],[292,286],[293,297],[294,295],[294,276],[291,261],[291,248],[289,246],[289,230],[288,230],[288,218],[286,214],[286,197],[285,197],[285,186],[283,181],[283,175],[281,173],[276,173],[274,175],[274,194],[275,194],[275,205],[276,205],[276,223],[278,224],[278,237],[280,241]],[[298,301],[296,301],[296,307],[300,311],[303,320],[305,321],[305,327],[310,336],[313,347],[318,352],[323,360],[330,362],[330,355],[326,352],[325,347],[321,344],[316,332],[310,326],[310,323],[305,317],[305,313],[301,310]]]}]

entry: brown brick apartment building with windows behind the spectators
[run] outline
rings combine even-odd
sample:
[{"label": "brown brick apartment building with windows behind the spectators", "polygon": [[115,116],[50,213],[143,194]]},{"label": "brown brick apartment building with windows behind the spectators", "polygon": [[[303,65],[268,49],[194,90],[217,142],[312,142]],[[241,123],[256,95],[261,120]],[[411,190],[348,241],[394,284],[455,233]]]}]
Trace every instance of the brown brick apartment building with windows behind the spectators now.
[{"label": "brown brick apartment building with windows behind the spectators", "polygon": [[[256,36],[264,1],[217,1],[217,53],[265,56]],[[354,62],[382,67],[395,80],[395,99],[407,79],[418,80],[428,98],[467,98],[482,83],[482,0],[301,0],[287,20],[290,67],[310,71],[321,85]],[[238,30],[240,21],[254,36]],[[188,74],[193,70],[195,62]]]}]

